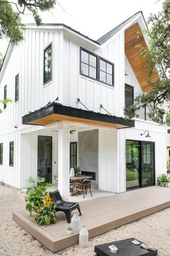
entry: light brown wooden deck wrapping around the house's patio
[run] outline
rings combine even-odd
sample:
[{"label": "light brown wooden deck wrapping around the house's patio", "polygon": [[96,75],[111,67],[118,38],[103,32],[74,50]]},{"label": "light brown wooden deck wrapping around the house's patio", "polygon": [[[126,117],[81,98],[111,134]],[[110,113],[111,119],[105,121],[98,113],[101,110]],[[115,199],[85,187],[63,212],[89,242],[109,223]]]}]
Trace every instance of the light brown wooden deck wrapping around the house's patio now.
[{"label": "light brown wooden deck wrapping around the house's patio", "polygon": [[[158,210],[170,207],[170,187],[147,187],[119,195],[82,201],[81,226],[86,226],[89,238],[118,226],[138,220]],[[68,236],[64,213],[57,213],[58,222],[44,227],[37,226],[34,217],[26,210],[13,213],[13,220],[52,252],[70,247],[79,242],[79,234]]]}]

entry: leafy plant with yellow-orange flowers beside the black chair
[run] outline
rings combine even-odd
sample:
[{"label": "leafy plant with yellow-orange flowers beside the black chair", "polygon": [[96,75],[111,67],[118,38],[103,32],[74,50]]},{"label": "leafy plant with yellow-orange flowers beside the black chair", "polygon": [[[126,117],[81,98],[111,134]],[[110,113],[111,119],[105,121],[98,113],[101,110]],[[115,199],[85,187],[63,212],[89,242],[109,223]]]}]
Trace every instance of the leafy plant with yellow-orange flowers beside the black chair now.
[{"label": "leafy plant with yellow-orange flowers beside the black chair", "polygon": [[53,205],[53,200],[50,195],[45,195],[43,208],[38,211],[37,216],[35,217],[35,222],[38,225],[48,226],[50,223],[55,223],[57,218],[55,216],[56,205]]}]

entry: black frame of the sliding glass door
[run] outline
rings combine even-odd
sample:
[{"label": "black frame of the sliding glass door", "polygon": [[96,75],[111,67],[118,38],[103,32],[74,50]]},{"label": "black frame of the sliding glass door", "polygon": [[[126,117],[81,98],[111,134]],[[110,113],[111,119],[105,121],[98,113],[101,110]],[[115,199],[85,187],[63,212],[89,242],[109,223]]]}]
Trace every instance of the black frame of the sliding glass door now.
[{"label": "black frame of the sliding glass door", "polygon": [[[125,145],[127,141],[136,141],[139,142],[140,145],[140,150],[139,150],[139,186],[135,186],[135,187],[126,187],[126,189],[134,189],[134,188],[138,188],[138,187],[151,187],[151,186],[155,186],[156,184],[156,168],[155,168],[155,142],[153,141],[148,141],[148,140],[125,140]],[[143,142],[151,142],[153,143],[153,184],[142,184],[142,143]]]}]

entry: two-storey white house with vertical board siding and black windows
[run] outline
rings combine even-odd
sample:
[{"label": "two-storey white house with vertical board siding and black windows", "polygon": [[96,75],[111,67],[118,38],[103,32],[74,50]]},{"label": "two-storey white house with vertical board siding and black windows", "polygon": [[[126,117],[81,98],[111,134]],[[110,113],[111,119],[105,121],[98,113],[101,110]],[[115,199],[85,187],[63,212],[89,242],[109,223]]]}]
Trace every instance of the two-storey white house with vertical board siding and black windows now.
[{"label": "two-storey white house with vertical board siding and black windows", "polygon": [[123,119],[149,90],[136,47],[147,44],[145,28],[141,12],[99,40],[63,24],[27,25],[24,40],[9,44],[0,98],[13,103],[0,114],[1,182],[24,188],[29,176],[54,182],[58,174],[68,198],[70,165],[78,165],[104,191],[156,184],[166,171],[166,127],[148,121],[148,108]]}]

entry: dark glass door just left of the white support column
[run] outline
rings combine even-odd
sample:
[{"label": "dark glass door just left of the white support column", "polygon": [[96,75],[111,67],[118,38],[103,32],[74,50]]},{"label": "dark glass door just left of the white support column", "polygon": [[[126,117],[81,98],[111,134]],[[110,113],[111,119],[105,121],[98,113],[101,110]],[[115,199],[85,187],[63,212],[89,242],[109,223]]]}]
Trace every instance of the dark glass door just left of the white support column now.
[{"label": "dark glass door just left of the white support column", "polygon": [[52,138],[48,136],[38,136],[37,176],[45,178],[46,182],[51,182],[51,175]]}]

